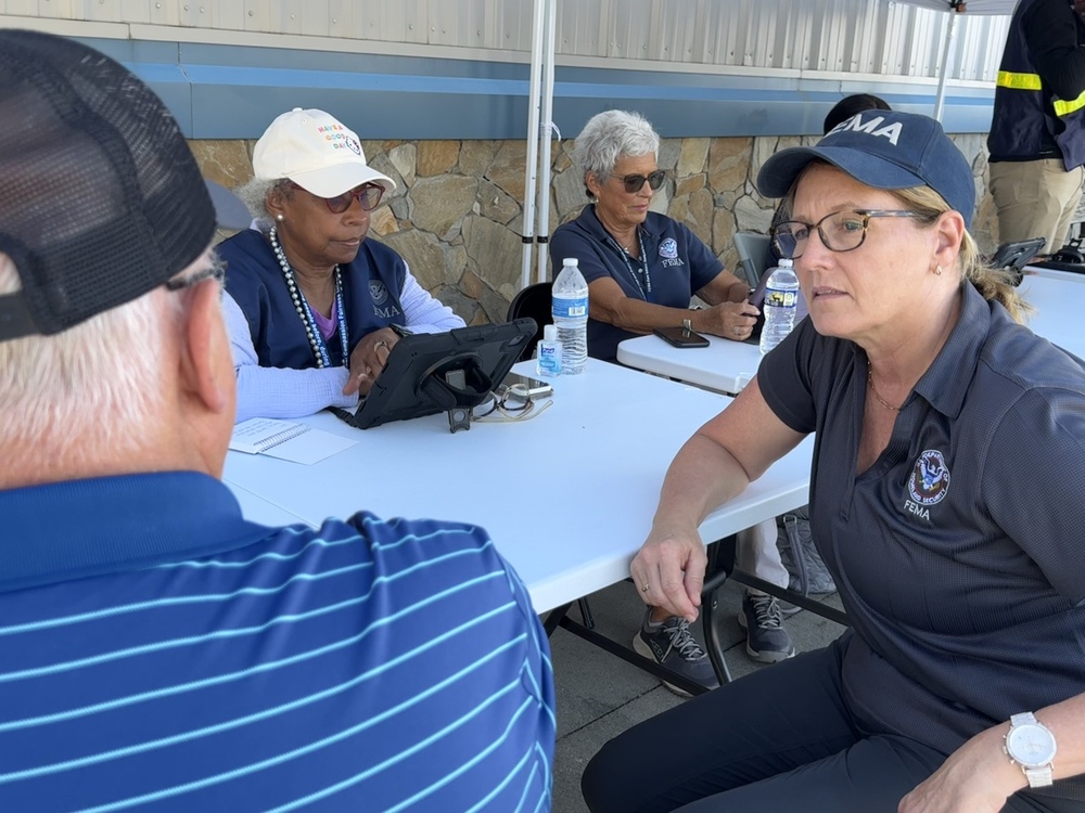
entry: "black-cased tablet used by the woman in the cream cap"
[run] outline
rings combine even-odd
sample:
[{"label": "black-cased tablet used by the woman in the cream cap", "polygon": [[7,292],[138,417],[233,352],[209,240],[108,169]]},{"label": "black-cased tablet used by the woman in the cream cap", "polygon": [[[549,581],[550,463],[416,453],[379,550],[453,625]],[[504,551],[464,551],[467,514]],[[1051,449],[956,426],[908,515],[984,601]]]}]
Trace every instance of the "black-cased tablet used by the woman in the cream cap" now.
[{"label": "black-cased tablet used by the woman in the cream cap", "polygon": [[520,360],[534,319],[404,336],[358,404],[359,429],[477,406]]}]

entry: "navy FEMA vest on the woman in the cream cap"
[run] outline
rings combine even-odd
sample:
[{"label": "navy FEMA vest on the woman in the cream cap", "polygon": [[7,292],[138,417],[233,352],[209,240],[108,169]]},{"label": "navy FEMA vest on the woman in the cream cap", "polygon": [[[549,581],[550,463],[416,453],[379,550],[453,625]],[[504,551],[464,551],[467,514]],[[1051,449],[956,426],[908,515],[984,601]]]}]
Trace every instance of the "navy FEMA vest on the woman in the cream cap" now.
[{"label": "navy FEMA vest on the woman in the cream cap", "polygon": [[[290,298],[268,238],[255,229],[246,229],[219,243],[215,251],[226,262],[226,289],[248,320],[260,366],[315,367],[305,323]],[[349,358],[363,336],[391,324],[407,323],[399,301],[407,266],[386,245],[366,240],[354,261],[341,269]],[[326,345],[332,366],[342,365],[339,332]]]}]

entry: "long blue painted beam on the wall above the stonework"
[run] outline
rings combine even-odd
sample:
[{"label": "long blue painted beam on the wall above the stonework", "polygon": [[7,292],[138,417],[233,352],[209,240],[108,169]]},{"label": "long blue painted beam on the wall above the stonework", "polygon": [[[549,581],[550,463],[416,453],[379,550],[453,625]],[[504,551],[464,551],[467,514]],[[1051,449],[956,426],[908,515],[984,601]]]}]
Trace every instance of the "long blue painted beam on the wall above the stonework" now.
[{"label": "long blue painted beam on the wall above the stonework", "polygon": [[[86,40],[153,87],[193,139],[255,139],[280,113],[319,107],[362,139],[524,139],[522,63],[130,40]],[[930,113],[934,89],[886,76],[854,81],[620,68],[556,69],[553,118],[573,138],[599,111],[643,113],[665,138],[820,134],[848,93]],[[994,89],[954,89],[950,132],[986,132]]]}]

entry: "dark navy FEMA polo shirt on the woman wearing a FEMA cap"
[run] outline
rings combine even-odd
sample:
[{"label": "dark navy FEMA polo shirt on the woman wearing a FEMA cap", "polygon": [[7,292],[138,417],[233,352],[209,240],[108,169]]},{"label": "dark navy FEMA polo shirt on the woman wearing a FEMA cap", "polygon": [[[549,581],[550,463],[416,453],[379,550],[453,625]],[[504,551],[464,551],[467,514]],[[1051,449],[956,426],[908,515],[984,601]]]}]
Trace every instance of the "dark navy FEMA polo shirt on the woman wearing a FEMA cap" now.
[{"label": "dark navy FEMA polo shirt on the woman wearing a FEMA cap", "polygon": [[[860,348],[805,320],[757,380],[781,421],[817,433],[810,520],[851,619],[845,697],[868,731],[949,753],[1085,692],[1085,362],[966,284],[863,473]],[[1085,777],[1033,792],[1085,800]]]}]

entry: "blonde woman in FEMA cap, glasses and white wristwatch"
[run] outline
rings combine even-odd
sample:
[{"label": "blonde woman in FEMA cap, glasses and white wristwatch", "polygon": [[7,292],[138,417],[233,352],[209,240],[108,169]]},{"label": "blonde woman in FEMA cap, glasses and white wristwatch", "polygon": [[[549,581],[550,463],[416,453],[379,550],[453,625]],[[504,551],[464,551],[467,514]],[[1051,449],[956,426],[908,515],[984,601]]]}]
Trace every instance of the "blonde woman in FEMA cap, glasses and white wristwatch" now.
[{"label": "blonde woman in FEMA cap, glasses and white wristwatch", "polygon": [[694,617],[700,517],[816,431],[810,521],[851,625],[612,740],[589,808],[1085,809],[1085,361],[1014,321],[933,119],[857,114],[757,185],[788,196],[810,318],[679,451],[631,573]]}]

